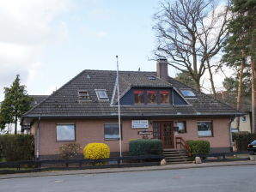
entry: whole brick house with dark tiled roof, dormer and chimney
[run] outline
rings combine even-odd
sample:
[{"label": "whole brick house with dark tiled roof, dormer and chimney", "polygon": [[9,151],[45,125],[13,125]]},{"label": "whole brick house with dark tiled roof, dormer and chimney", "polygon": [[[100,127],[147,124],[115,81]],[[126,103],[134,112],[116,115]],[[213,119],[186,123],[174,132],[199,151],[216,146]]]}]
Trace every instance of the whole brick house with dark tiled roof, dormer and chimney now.
[{"label": "whole brick house with dark tiled roof, dormer and chimney", "polygon": [[[147,130],[164,148],[178,147],[181,137],[210,141],[211,152],[229,151],[231,119],[241,112],[169,77],[166,60],[156,64],[156,72],[119,72],[122,150]],[[53,157],[66,142],[104,142],[119,152],[116,79],[116,71],[83,70],[27,111],[21,124],[35,136],[36,157]]]}]

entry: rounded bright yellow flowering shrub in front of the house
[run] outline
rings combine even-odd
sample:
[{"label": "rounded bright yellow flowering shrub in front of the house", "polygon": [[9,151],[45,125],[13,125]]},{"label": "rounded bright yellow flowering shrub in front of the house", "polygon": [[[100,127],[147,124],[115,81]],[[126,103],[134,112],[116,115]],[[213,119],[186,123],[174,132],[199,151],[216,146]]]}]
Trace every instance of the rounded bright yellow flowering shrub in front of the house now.
[{"label": "rounded bright yellow flowering shrub in front of the house", "polygon": [[110,149],[105,143],[89,143],[83,148],[85,159],[106,159],[110,156]]}]

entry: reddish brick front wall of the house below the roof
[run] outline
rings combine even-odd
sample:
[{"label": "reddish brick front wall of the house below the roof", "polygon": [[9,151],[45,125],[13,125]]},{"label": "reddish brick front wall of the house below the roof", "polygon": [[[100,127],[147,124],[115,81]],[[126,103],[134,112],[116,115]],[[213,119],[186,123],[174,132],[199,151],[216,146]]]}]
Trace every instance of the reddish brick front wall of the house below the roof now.
[{"label": "reddish brick front wall of the house below the roof", "polygon": [[[159,121],[158,119],[157,121]],[[165,121],[177,121],[177,119],[162,119]],[[180,119],[181,120],[181,119]],[[184,120],[184,119],[183,119]],[[213,137],[198,138],[199,120],[213,121]],[[152,120],[150,120],[152,121]],[[76,124],[76,143],[82,148],[90,142],[104,142],[110,147],[111,152],[119,152],[119,141],[104,141],[103,123],[117,123],[113,120],[41,120],[40,122],[40,155],[58,154],[58,147],[67,142],[56,141],[57,123],[75,123]],[[129,150],[129,141],[131,139],[142,138],[137,135],[141,129],[131,129],[131,120],[122,121],[123,141],[122,150]],[[185,140],[207,140],[210,141],[210,147],[230,147],[229,118],[200,118],[186,119],[186,134],[179,134]],[[149,130],[152,125],[149,123]],[[152,135],[149,135],[149,138]]]}]

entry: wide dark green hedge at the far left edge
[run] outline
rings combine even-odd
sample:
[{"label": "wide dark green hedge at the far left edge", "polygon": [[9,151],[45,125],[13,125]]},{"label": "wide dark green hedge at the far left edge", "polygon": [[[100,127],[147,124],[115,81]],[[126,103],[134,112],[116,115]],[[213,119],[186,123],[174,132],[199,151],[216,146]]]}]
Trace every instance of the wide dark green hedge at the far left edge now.
[{"label": "wide dark green hedge at the far left edge", "polygon": [[0,135],[0,156],[7,161],[34,159],[34,136]]}]

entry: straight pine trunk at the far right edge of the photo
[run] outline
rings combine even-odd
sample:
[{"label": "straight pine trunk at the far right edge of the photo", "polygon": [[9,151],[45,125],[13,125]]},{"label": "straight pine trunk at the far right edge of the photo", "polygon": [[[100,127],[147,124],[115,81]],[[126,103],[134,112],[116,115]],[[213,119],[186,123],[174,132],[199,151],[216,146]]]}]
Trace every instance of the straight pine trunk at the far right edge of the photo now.
[{"label": "straight pine trunk at the far right edge of the photo", "polygon": [[251,57],[251,79],[252,79],[252,130],[256,134],[256,93],[255,93],[255,60]]}]

